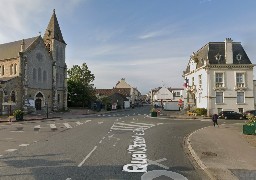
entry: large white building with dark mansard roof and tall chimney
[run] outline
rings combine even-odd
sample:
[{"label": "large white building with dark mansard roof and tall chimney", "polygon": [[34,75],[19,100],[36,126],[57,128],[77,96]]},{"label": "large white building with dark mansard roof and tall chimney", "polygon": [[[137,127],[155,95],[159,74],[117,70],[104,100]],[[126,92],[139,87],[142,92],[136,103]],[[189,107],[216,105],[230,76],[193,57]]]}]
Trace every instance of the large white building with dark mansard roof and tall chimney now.
[{"label": "large white building with dark mansard roof and tall chimney", "polygon": [[206,108],[208,115],[254,109],[253,67],[240,42],[209,42],[183,72],[187,108]]}]

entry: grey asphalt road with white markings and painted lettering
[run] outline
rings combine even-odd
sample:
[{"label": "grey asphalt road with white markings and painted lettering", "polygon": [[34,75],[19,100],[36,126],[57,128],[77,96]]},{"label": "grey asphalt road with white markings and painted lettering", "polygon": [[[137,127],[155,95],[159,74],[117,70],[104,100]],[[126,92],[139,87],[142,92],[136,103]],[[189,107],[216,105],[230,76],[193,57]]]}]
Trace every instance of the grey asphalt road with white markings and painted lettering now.
[{"label": "grey asphalt road with white markings and painted lettering", "polygon": [[184,138],[211,121],[151,118],[149,107],[0,126],[0,179],[204,179]]}]

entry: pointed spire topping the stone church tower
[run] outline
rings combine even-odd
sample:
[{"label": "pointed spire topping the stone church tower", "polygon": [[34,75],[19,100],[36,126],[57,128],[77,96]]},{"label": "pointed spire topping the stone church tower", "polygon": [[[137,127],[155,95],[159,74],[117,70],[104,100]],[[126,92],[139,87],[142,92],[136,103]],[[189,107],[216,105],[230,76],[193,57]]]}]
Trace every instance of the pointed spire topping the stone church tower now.
[{"label": "pointed spire topping the stone church tower", "polygon": [[56,14],[55,14],[55,9],[53,10],[52,17],[51,17],[50,22],[47,26],[47,29],[44,33],[43,39],[45,42],[47,40],[55,39],[57,41],[65,43],[62,33],[61,33],[61,30],[60,30],[60,26],[59,26]]}]

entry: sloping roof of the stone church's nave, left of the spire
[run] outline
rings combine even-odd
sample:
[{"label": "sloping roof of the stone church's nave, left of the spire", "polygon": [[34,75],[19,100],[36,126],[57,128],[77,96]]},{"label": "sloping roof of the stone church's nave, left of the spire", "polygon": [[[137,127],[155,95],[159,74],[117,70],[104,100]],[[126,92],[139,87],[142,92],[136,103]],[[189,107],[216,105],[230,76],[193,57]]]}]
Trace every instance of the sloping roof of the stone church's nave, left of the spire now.
[{"label": "sloping roof of the stone church's nave, left of the spire", "polygon": [[28,39],[22,39],[10,43],[0,44],[0,60],[16,58],[21,51],[21,44],[24,40],[24,51],[38,38],[32,37]]}]

